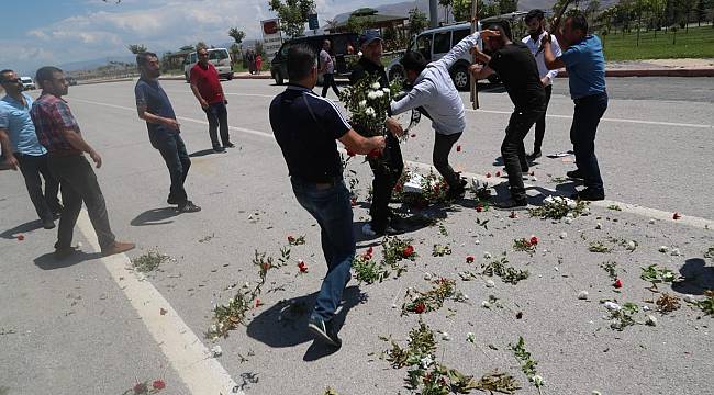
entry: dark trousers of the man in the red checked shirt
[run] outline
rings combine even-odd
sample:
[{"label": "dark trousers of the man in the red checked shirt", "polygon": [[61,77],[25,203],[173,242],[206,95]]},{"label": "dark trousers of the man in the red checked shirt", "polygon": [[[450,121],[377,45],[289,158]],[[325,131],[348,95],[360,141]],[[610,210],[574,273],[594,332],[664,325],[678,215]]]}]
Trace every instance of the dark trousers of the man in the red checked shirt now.
[{"label": "dark trousers of the man in the red checked shirt", "polygon": [[87,213],[102,251],[112,247],[115,238],[109,226],[104,195],[97,182],[97,174],[85,156],[57,157],[51,154],[48,165],[53,174],[62,182],[62,202],[65,205],[59,217],[55,248],[71,246],[72,233],[82,202],[87,205]]}]

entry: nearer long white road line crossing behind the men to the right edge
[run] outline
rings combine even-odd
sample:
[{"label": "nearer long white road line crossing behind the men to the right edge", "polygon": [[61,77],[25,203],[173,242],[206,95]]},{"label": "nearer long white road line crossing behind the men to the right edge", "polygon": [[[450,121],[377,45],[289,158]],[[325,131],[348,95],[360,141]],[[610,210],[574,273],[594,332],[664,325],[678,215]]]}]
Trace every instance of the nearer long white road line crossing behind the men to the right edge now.
[{"label": "nearer long white road line crossing behind the men to the right edge", "polygon": [[[90,104],[96,104],[96,105],[104,105],[104,106],[114,108],[114,109],[136,111],[136,109],[133,109],[133,108],[121,106],[121,105],[115,105],[115,104],[108,104],[108,103],[101,103],[101,102],[81,100],[81,99],[72,99],[72,100],[74,101],[85,102],[85,103],[90,103]],[[199,123],[199,124],[202,124],[202,125],[208,125],[207,121],[194,120],[194,119],[189,119],[189,117],[185,117],[185,116],[178,116],[177,119],[180,120],[180,121],[193,122],[193,123]],[[247,133],[247,134],[252,134],[252,135],[255,135],[255,136],[267,137],[267,138],[270,138],[270,139],[274,138],[272,133],[265,133],[265,132],[260,132],[260,131],[247,129],[247,128],[236,127],[236,126],[228,126],[228,128],[232,129],[232,131]],[[345,151],[343,150],[343,153],[345,153]],[[422,163],[422,162],[411,161],[411,160],[404,160],[404,163],[411,165],[413,167],[422,168],[422,169],[435,170],[435,168],[429,163]],[[482,182],[492,183],[492,182],[495,181],[495,179],[493,179],[493,178],[488,179],[488,178],[486,178],[486,176],[471,173],[471,172],[466,172],[466,171],[462,172],[461,174],[465,176],[465,177],[469,177],[469,178],[477,178],[478,180],[481,180]],[[528,188],[528,187],[533,187],[533,185],[526,184],[525,187]],[[554,195],[559,195],[560,194],[559,192],[557,192],[555,190],[547,189],[547,188],[544,188],[544,189],[546,189],[547,191],[553,192]],[[702,228],[702,229],[714,229],[714,221],[706,219],[706,218],[701,218],[701,217],[695,217],[695,216],[690,216],[690,215],[682,215],[682,217],[680,219],[673,219],[672,216],[673,216],[674,213],[670,213],[670,212],[666,212],[666,211],[661,211],[661,210],[657,210],[657,208],[644,207],[644,206],[639,206],[639,205],[636,205],[636,204],[616,202],[616,201],[600,201],[600,202],[592,202],[592,204],[595,205],[595,206],[605,207],[605,208],[607,206],[612,205],[612,204],[616,204],[622,208],[623,212],[626,212],[626,213],[631,213],[631,214],[635,214],[635,215],[639,215],[639,216],[645,216],[645,217],[648,217],[648,218],[669,221],[669,222],[673,222],[673,223],[677,223],[677,224],[688,225],[688,226]]]}]

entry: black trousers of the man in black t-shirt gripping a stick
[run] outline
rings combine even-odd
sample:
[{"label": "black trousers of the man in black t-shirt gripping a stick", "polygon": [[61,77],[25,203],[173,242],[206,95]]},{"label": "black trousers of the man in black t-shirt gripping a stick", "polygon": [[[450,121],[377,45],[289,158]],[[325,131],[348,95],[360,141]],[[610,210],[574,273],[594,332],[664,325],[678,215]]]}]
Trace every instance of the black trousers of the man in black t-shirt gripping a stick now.
[{"label": "black trousers of the man in black t-shirt gripping a stick", "polygon": [[501,156],[509,173],[511,198],[513,200],[526,199],[523,185],[523,173],[528,171],[528,161],[525,157],[523,139],[531,131],[531,126],[545,113],[544,110],[515,110],[505,128],[505,138],[501,144]]}]

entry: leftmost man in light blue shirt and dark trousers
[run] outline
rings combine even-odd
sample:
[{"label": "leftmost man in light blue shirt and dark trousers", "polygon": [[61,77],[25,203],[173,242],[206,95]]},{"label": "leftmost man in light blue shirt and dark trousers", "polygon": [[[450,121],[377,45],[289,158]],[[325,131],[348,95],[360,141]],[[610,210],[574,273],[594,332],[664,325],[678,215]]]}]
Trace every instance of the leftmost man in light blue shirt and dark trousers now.
[{"label": "leftmost man in light blue shirt and dark trousers", "polygon": [[[13,170],[22,171],[30,200],[45,229],[55,227],[55,217],[62,212],[57,200],[59,182],[51,174],[47,150],[37,140],[35,126],[30,117],[32,98],[22,93],[22,81],[12,70],[0,71],[0,84],[7,95],[0,100],[0,145],[4,162]],[[42,180],[45,179],[45,191]]]}]

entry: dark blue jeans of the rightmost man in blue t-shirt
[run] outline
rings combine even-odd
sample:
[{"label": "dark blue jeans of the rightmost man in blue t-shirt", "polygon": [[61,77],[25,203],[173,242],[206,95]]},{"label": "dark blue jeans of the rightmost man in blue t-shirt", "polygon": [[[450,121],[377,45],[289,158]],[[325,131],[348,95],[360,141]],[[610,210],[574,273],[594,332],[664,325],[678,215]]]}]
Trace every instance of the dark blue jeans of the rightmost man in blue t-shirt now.
[{"label": "dark blue jeans of the rightmost man in blue t-shirt", "polygon": [[595,133],[600,119],[607,110],[607,93],[593,94],[573,100],[576,112],[570,126],[570,142],[576,153],[576,165],[582,172],[585,188],[604,192],[598,157],[595,157]]}]

